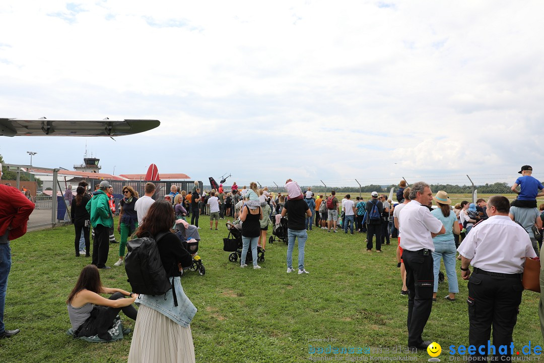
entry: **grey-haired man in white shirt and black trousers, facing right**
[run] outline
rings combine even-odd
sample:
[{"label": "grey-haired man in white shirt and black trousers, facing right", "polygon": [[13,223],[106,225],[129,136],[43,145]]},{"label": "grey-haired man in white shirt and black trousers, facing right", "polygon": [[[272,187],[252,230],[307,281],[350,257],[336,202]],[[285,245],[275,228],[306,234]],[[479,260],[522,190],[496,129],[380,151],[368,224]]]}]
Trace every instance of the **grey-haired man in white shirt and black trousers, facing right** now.
[{"label": "grey-haired man in white shirt and black trousers, facing right", "polygon": [[435,279],[432,269],[431,253],[435,250],[432,237],[446,233],[446,229],[427,207],[432,201],[432,191],[428,184],[413,184],[410,199],[399,214],[399,227],[403,237],[400,247],[403,248],[408,288],[408,347],[415,350],[426,349],[432,342],[424,341],[421,337],[432,307]]}]

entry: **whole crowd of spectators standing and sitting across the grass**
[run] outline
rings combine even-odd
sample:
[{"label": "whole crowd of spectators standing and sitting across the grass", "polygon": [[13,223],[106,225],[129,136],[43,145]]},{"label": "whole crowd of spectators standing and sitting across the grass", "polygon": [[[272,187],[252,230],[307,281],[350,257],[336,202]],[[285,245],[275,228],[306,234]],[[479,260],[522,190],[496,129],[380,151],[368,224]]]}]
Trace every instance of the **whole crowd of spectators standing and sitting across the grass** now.
[{"label": "whole crowd of spectators standing and sitting across the grass", "polygon": [[[180,239],[171,232],[172,226],[177,220],[190,217],[191,224],[200,228],[200,215],[209,214],[210,230],[214,229],[214,221],[215,230],[218,230],[219,219],[233,218],[233,224],[240,224],[242,231],[240,267],[248,266],[246,255],[251,250],[252,266],[260,269],[257,247],[265,249],[268,227],[276,219],[270,217],[279,214],[278,218],[287,217],[287,273],[309,273],[304,263],[305,244],[308,231],[313,231],[314,227],[328,233],[336,233],[338,227],[350,235],[366,232],[366,250],[374,249],[378,253],[382,245],[390,244],[390,238],[398,238],[400,293],[408,298],[407,345],[411,349],[426,349],[432,342],[423,339],[423,331],[431,316],[432,303],[437,301],[441,261],[448,278],[449,293],[444,300],[456,300],[459,292],[456,259],[461,261],[462,279],[468,280],[469,343],[485,346],[491,339],[492,327],[494,346],[508,346],[521,303],[524,261],[536,257],[542,245],[544,204],[537,209],[536,198],[544,196],[544,186],[531,173],[529,165],[521,168],[522,176],[512,186],[518,197],[511,204],[504,196],[495,195],[487,201],[478,199],[475,203],[462,201],[453,205],[446,191],[432,193],[424,182],[407,186],[404,180],[399,183],[396,202],[378,192],[372,192],[368,201],[360,197],[353,200],[350,194],[339,201],[334,190],[329,196],[316,196],[310,187],[302,192],[298,183],[291,179],[286,181],[283,194],[274,195],[268,188],[258,188],[254,182],[242,189],[234,183],[227,193],[222,185],[218,190],[201,193],[195,183],[190,192],[172,186],[170,194],[158,201],[153,199],[156,187],[151,182],[145,184],[145,195],[141,198],[133,188],[125,186],[119,205],[119,260],[114,266],[123,264],[129,236],[161,235],[157,242],[160,259],[176,291],[173,297],[166,294],[164,299],[102,285],[99,269],[110,268],[106,263],[115,214],[115,204],[112,205],[110,196],[112,186],[108,181],[102,181],[90,194],[86,183],[82,182],[71,201],[74,247],[76,256],[82,252],[90,256],[92,227],[92,262],[83,268],[66,300],[70,323],[77,336],[97,335],[110,340],[108,328],[122,311],[136,321],[129,362],[157,361],[158,356],[168,356],[172,361],[195,361],[190,322],[196,308],[184,294],[180,280],[183,269],[190,267],[193,260]],[[18,333],[18,330],[5,330],[3,324],[9,241],[24,234],[34,205],[13,187],[0,185],[0,196],[1,338]],[[296,268],[292,263],[295,244],[298,244]],[[106,299],[101,294],[110,297]],[[138,310],[133,303],[139,304]],[[542,305],[539,313],[544,328]],[[164,337],[169,344],[160,343],[157,336]],[[492,354],[496,359],[508,356],[499,351]],[[470,359],[481,360],[486,355],[478,350]]]}]

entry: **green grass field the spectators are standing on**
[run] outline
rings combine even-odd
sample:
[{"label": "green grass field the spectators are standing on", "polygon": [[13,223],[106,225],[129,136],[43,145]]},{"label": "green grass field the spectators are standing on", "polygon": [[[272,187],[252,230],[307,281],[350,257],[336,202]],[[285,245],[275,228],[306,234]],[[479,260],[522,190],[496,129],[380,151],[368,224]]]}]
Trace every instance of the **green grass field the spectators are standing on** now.
[{"label": "green grass field the spectators are standing on", "polygon": [[[229,262],[222,250],[227,230],[221,222],[219,231],[210,231],[209,218],[200,218],[206,275],[190,272],[182,277],[187,296],[199,309],[191,324],[197,362],[304,362],[315,356],[308,354],[308,339],[319,338],[335,339],[332,344],[339,347],[405,346],[407,298],[399,293],[396,239],[382,254],[367,253],[363,234],[314,230],[306,244],[310,274],[287,274],[287,246],[282,242],[267,244],[261,270]],[[58,227],[29,232],[11,243],[5,324],[21,333],[0,340],[0,362],[127,360],[132,335],[113,343],[87,343],[65,335],[70,328],[66,296],[81,268],[90,263],[90,258],[74,256],[73,235],[72,226]],[[108,266],[117,260],[118,246],[111,245]],[[294,262],[296,256],[295,249]],[[101,276],[107,287],[130,290],[122,267],[103,270]],[[450,344],[468,345],[467,282],[460,276],[459,285],[453,303],[443,300],[447,281],[439,285],[438,302],[424,331],[425,338],[441,344],[443,360]],[[541,343],[538,304],[538,294],[523,293],[514,330],[518,348],[529,341],[533,346]],[[130,319],[121,318],[133,328]],[[344,360],[354,355],[342,354]],[[429,359],[425,352],[416,356]]]}]

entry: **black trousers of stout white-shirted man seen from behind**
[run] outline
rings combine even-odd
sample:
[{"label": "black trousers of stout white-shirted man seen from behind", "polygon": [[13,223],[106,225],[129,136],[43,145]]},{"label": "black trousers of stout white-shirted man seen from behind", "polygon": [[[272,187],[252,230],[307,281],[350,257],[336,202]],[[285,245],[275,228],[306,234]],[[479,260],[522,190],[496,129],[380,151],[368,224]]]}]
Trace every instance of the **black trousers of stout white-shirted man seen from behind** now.
[{"label": "black trousers of stout white-shirted man seen from behind", "polygon": [[[490,340],[491,327],[493,327],[493,341],[495,351],[491,349],[490,354],[496,361],[502,362],[510,357],[510,348],[506,350],[508,354],[500,354],[499,347],[510,346],[512,342],[512,331],[517,321],[517,307],[521,303],[521,294],[523,286],[521,278],[504,274],[494,276],[479,273],[474,269],[471,278],[468,280],[468,343],[474,345],[477,349],[472,357],[474,360],[483,359],[487,356],[487,341]],[[485,354],[478,352],[479,346],[485,346]],[[484,350],[484,349],[483,349]],[[503,353],[506,353],[503,351]],[[514,353],[515,354],[515,353]]]}]

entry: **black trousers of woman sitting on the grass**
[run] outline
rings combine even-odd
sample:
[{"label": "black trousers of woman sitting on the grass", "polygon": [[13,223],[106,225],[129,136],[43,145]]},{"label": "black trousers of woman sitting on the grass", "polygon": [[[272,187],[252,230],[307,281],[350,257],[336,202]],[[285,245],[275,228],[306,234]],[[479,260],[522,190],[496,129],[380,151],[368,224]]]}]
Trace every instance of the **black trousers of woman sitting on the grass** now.
[{"label": "black trousers of woman sitting on the grass", "polygon": [[[124,295],[116,292],[109,297],[109,300],[122,299]],[[94,336],[98,335],[100,339],[112,340],[112,336],[108,333],[108,329],[112,327],[113,321],[118,313],[122,311],[132,320],[136,320],[138,311],[133,305],[123,307],[95,306],[91,312],[91,318],[87,319],[81,327],[79,327],[77,336]]]}]

